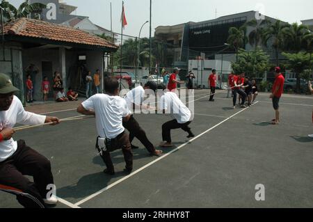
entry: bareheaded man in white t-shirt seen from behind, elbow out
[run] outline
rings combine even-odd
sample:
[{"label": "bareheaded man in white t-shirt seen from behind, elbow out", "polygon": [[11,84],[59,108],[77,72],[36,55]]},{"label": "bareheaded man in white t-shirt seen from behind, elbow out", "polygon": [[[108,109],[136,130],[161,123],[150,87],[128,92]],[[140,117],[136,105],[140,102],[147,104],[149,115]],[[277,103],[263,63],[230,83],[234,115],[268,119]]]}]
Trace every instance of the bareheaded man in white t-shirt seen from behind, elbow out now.
[{"label": "bareheaded man in white t-shirt seen from behind, elbow out", "polygon": [[[125,133],[122,120],[130,118],[126,101],[119,97],[118,80],[114,77],[105,79],[106,94],[96,94],[84,101],[77,111],[83,115],[95,115],[97,126],[96,148],[102,157],[106,169],[104,173],[114,175],[114,166],[110,152],[122,149],[126,162],[125,171],[133,169],[133,153],[129,143],[129,135]],[[105,141],[105,142],[104,142]]]}]

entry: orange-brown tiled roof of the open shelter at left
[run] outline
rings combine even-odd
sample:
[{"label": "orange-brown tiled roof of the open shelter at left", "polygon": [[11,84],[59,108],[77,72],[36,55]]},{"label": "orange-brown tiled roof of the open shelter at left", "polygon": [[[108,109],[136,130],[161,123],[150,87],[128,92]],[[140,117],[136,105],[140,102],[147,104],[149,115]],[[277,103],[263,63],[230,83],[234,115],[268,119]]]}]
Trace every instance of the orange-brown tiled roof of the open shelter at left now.
[{"label": "orange-brown tiled roof of the open shelter at left", "polygon": [[118,49],[118,46],[114,45],[112,42],[99,38],[97,35],[87,33],[86,31],[35,19],[20,18],[15,20],[15,22],[7,23],[4,25],[4,33],[5,35],[19,35],[54,40],[56,42],[71,42],[95,47]]}]

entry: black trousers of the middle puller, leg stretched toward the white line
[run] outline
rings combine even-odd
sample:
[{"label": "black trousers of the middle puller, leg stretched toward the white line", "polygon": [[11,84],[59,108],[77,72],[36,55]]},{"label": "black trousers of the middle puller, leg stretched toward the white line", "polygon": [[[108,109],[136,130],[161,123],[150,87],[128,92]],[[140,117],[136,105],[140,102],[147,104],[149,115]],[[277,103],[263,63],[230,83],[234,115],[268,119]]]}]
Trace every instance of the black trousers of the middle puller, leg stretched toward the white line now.
[{"label": "black trousers of the middle puller, leg stretched toward the white line", "polygon": [[128,122],[123,122],[123,127],[125,127],[129,131],[130,143],[136,137],[139,141],[141,141],[141,143],[143,143],[148,152],[155,152],[154,145],[149,141],[147,135],[145,134],[145,131],[143,130],[143,128],[141,128],[134,116],[131,116]]}]

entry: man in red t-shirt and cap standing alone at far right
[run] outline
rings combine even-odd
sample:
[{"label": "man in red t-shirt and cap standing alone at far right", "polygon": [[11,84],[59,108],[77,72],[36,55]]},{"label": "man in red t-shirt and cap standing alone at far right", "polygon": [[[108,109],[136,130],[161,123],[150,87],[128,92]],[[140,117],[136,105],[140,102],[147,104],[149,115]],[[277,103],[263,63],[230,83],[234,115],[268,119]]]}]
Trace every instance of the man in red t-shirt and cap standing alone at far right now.
[{"label": "man in red t-shirt and cap standing alone at far right", "polygon": [[282,97],[282,91],[284,90],[284,76],[280,73],[280,68],[275,67],[275,81],[273,84],[272,94],[270,98],[273,102],[273,108],[275,109],[275,119],[272,120],[273,125],[280,123],[280,111],[279,111],[279,102],[280,97]]}]

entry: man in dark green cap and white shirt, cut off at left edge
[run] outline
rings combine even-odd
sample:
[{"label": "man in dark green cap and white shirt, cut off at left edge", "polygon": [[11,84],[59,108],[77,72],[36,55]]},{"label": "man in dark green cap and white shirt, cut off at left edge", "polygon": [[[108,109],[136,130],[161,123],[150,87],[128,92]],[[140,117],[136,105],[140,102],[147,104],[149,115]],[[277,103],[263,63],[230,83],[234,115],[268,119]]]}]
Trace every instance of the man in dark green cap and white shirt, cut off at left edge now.
[{"label": "man in dark green cap and white shirt, cut off at left edge", "polygon": [[[41,116],[24,110],[22,102],[14,95],[18,91],[6,74],[0,74],[0,189],[13,193],[18,202],[27,208],[45,207],[58,202],[48,196],[49,184],[54,184],[50,161],[26,145],[25,141],[14,141],[13,127],[58,124],[56,117]],[[33,176],[31,182],[24,175]]]}]

